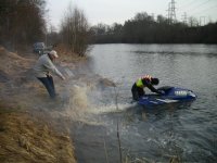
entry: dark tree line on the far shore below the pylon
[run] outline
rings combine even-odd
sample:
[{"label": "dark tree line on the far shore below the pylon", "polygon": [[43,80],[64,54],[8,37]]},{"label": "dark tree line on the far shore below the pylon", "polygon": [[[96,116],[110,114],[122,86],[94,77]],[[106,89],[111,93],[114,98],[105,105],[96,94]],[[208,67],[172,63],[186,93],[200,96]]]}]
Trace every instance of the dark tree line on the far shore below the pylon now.
[{"label": "dark tree line on the far shore below the pylon", "polygon": [[170,21],[162,15],[156,20],[145,12],[112,26],[91,27],[91,43],[217,43],[217,23],[201,26],[194,17],[189,23]]}]

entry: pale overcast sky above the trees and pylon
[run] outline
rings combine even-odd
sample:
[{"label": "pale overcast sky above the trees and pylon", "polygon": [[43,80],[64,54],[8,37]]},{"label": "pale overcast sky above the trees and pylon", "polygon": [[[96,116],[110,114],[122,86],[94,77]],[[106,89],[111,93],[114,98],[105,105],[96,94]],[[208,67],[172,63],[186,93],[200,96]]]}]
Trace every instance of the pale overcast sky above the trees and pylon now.
[{"label": "pale overcast sky above the trees and pylon", "polygon": [[[82,10],[90,25],[103,23],[124,24],[132,18],[136,13],[146,12],[154,16],[167,16],[168,3],[171,0],[48,0],[50,24],[59,28],[68,5],[76,5]],[[176,17],[181,21],[183,13],[197,20],[217,21],[217,0],[175,0]]]}]

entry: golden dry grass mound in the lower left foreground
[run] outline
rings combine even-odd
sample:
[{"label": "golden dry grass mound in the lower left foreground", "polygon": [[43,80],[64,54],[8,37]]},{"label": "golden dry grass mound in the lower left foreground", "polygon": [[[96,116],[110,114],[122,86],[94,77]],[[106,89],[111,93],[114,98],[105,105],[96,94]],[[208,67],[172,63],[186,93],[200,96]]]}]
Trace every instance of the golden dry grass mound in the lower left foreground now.
[{"label": "golden dry grass mound in the lower left foreground", "polygon": [[20,109],[0,106],[0,162],[75,163],[71,138]]}]

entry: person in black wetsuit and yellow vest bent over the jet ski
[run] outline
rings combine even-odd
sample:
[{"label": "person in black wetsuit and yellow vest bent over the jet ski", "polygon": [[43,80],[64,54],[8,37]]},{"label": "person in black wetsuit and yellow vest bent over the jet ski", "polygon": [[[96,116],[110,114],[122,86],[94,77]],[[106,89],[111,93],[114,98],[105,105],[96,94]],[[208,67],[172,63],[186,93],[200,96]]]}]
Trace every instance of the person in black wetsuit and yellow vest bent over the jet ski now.
[{"label": "person in black wetsuit and yellow vest bent over the jet ski", "polygon": [[163,93],[162,91],[153,87],[153,85],[158,85],[158,83],[159,83],[158,78],[154,78],[150,75],[144,75],[143,77],[140,77],[131,88],[133,100],[138,101],[139,98],[144,96],[144,90],[143,90],[144,87],[148,87],[152,92]]}]

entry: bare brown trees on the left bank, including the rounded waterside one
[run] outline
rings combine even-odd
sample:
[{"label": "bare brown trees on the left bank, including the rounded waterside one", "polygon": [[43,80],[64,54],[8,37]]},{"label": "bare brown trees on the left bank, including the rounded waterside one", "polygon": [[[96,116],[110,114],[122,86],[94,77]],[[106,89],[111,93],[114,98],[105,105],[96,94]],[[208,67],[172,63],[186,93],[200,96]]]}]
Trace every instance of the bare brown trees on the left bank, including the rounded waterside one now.
[{"label": "bare brown trees on the left bank, including the rounded waterside one", "polygon": [[0,0],[0,45],[8,49],[63,43],[72,52],[85,55],[88,49],[89,25],[86,15],[68,5],[60,32],[48,28],[47,0]]}]

